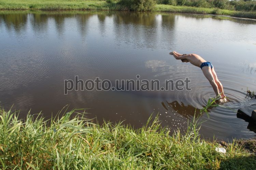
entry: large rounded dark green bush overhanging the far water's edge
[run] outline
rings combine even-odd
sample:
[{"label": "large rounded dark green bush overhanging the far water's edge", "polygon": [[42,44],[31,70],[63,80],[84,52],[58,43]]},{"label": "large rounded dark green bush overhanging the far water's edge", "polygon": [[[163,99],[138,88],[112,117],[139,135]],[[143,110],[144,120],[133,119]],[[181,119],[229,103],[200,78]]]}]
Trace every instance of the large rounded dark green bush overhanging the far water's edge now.
[{"label": "large rounded dark green bush overhanging the far water's edge", "polygon": [[131,11],[152,11],[156,0],[119,0],[118,3]]}]

